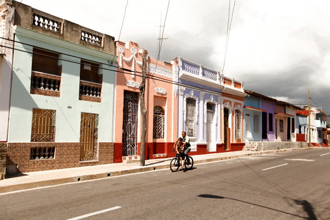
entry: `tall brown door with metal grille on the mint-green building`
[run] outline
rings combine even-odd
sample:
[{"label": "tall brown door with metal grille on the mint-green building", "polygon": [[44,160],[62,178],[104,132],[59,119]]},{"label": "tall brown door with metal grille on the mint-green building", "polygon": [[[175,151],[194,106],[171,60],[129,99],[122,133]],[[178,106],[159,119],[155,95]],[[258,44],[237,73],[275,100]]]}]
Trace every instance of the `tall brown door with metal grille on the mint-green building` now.
[{"label": "tall brown door with metal grille on the mint-green building", "polygon": [[80,161],[98,160],[99,115],[81,113]]}]

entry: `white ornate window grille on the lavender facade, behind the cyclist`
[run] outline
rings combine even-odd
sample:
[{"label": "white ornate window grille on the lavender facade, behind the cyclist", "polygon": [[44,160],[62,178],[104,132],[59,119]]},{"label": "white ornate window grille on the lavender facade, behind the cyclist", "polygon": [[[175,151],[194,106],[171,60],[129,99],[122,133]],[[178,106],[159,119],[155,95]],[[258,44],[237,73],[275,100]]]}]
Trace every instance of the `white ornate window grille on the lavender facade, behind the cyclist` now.
[{"label": "white ornate window grille on the lavender facade, behind the cyclist", "polygon": [[186,133],[189,137],[196,137],[196,100],[187,98]]}]

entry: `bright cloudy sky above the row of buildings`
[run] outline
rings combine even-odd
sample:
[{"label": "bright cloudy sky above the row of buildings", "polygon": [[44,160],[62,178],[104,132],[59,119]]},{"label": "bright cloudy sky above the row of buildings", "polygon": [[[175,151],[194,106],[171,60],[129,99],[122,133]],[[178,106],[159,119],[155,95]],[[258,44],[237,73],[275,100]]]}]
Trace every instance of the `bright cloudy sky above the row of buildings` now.
[{"label": "bright cloudy sky above the row of buildings", "polygon": [[22,3],[114,36],[116,41],[138,43],[140,49],[147,50],[155,59],[159,26],[165,22],[163,38],[167,39],[163,40],[161,61],[169,63],[182,57],[220,72],[224,68],[223,74],[243,81],[244,89],[298,107],[308,105],[310,89],[311,104],[330,115],[329,0],[56,0],[52,3],[22,0]]}]

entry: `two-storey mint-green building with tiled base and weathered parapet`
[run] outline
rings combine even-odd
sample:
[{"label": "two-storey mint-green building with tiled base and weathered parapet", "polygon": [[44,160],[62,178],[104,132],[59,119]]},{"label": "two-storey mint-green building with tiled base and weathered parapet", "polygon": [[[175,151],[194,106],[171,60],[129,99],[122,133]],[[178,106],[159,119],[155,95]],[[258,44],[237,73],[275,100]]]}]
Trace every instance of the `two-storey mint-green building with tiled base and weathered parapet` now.
[{"label": "two-storey mint-green building with tiled base and weathered parapet", "polygon": [[112,163],[114,38],[17,1],[5,5],[16,9],[8,171]]}]

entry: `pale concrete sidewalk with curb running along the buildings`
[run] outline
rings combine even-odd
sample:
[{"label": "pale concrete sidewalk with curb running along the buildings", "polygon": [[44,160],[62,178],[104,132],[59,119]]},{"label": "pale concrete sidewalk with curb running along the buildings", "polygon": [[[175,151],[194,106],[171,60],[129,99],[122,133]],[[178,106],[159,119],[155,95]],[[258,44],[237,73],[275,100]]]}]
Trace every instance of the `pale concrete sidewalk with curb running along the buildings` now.
[{"label": "pale concrete sidewalk with curb running along the buildings", "polygon": [[[255,155],[272,154],[286,151],[320,149],[315,148],[290,148],[268,151],[236,151],[218,154],[192,156],[194,165],[205,162],[233,159],[238,157],[249,157]],[[135,163],[112,163],[105,165],[76,167],[68,169],[58,169],[49,171],[38,171],[7,175],[6,179],[0,180],[0,193],[11,192],[23,189],[33,189],[38,187],[54,186],[59,184],[74,183],[79,181],[94,180],[125,174],[146,172],[152,170],[169,169],[169,162],[172,158],[145,160],[145,166]]]}]

